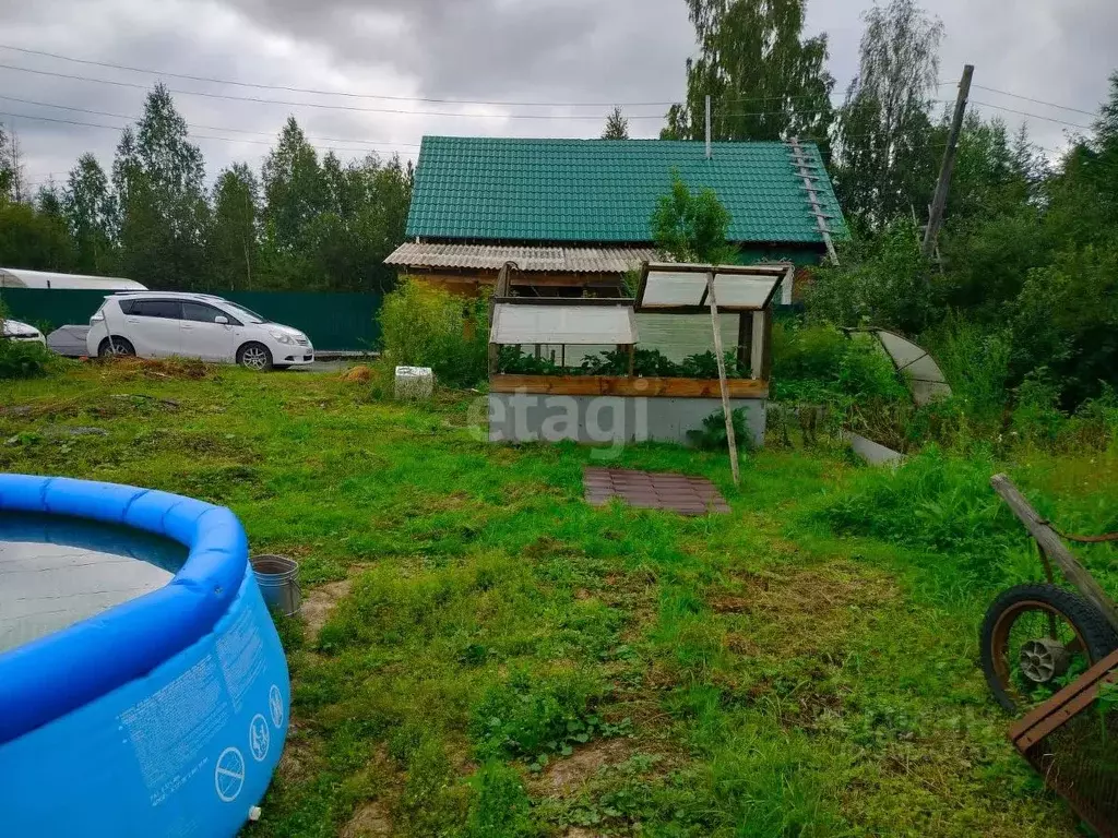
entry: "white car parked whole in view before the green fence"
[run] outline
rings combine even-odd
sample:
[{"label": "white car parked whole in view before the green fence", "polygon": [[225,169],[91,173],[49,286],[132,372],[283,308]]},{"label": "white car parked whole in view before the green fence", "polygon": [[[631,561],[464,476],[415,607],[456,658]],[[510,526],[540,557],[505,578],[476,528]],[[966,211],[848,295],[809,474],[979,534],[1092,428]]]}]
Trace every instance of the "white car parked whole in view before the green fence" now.
[{"label": "white car parked whole in view before the green fence", "polygon": [[211,294],[130,292],[105,297],[89,318],[89,356],[197,358],[249,370],[286,369],[314,361],[297,328]]}]

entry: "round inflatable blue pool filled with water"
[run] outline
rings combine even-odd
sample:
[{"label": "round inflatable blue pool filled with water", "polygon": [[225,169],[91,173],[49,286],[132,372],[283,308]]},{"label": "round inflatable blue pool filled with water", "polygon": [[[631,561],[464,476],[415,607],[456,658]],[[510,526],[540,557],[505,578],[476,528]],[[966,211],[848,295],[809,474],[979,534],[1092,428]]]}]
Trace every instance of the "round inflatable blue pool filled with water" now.
[{"label": "round inflatable blue pool filled with water", "polygon": [[290,698],[231,512],[0,475],[0,835],[235,836]]}]

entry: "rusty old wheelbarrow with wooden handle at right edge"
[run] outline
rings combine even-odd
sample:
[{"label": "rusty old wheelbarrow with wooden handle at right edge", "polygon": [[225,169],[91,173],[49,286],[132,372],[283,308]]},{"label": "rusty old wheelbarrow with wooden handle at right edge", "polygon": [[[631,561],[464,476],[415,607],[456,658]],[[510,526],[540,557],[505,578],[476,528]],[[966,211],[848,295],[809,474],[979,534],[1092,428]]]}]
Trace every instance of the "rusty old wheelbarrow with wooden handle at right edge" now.
[{"label": "rusty old wheelbarrow with wooden handle at right edge", "polygon": [[[1118,835],[1118,608],[1008,477],[994,489],[1040,549],[1046,583],[999,596],[983,621],[982,666],[994,696],[1018,716],[1010,739],[1099,835]],[[1053,564],[1078,593],[1055,584]]]}]

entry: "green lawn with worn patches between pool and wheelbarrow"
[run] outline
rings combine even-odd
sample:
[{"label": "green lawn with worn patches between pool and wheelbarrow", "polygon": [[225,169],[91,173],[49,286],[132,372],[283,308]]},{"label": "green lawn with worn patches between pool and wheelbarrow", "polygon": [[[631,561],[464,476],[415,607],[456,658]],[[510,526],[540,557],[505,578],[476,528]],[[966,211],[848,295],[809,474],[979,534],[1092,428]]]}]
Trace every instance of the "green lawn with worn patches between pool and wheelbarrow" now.
[{"label": "green lawn with worn patches between pool and wheelbarrow", "polygon": [[[249,836],[1076,834],[977,666],[1002,579],[834,535],[814,511],[872,479],[841,451],[764,451],[735,491],[724,456],[626,449],[733,508],[683,518],[588,507],[590,449],[479,441],[476,397],[97,366],[3,389],[0,469],[226,504],[301,562],[291,734]],[[1008,468],[1082,522],[1118,510],[1092,457]]]}]

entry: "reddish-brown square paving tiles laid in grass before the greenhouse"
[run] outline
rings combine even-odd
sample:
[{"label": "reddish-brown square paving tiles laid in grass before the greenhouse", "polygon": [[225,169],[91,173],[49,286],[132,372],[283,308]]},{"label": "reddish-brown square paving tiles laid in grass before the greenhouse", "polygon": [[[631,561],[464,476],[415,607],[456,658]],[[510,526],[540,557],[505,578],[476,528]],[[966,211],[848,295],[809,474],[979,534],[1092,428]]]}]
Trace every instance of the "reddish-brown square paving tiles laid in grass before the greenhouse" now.
[{"label": "reddish-brown square paving tiles laid in grass before the greenhouse", "polygon": [[586,502],[591,506],[601,506],[616,496],[631,506],[671,510],[681,515],[726,514],[730,511],[714,484],[705,477],[587,467],[582,470],[582,486]]}]

